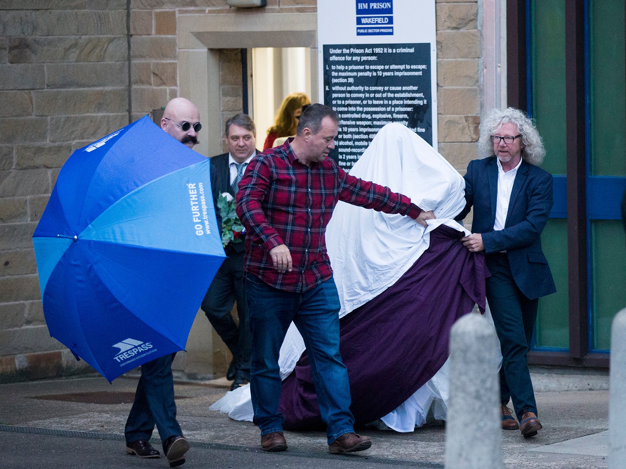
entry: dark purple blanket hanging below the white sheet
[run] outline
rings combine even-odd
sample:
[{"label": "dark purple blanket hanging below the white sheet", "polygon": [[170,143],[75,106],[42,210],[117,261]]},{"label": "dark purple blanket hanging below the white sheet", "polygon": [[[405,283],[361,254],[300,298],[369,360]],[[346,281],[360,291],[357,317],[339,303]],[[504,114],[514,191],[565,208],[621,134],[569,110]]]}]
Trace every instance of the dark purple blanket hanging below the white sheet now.
[{"label": "dark purple blanket hanging below the white sheet", "polygon": [[[348,369],[357,425],[406,401],[448,358],[450,328],[474,303],[485,310],[483,253],[463,233],[439,226],[430,247],[394,285],[340,320],[339,350]],[[286,430],[325,428],[306,352],[283,381],[279,411]]]}]

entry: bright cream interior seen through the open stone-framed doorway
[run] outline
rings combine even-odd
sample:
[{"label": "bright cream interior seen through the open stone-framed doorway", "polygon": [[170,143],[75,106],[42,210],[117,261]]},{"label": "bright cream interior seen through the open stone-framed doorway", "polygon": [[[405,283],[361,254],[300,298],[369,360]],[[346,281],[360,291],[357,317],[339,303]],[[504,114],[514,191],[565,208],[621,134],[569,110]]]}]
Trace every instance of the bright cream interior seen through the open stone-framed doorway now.
[{"label": "bright cream interior seen through the open stone-framed doorway", "polygon": [[[252,59],[252,118],[259,149],[275,124],[280,104],[291,93],[304,93],[311,102],[310,48],[254,48]],[[279,140],[280,141],[280,140]]]}]

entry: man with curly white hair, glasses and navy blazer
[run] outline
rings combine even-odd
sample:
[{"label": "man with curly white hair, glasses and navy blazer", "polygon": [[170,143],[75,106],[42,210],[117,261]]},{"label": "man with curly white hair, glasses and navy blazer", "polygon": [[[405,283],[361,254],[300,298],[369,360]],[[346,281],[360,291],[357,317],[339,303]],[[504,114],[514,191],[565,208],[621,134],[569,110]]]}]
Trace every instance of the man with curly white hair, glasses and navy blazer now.
[{"label": "man with curly white hair, glasses and navy blazer", "polygon": [[[481,159],[465,174],[466,206],[474,207],[471,252],[485,251],[491,277],[487,301],[502,349],[501,418],[505,430],[526,438],[541,429],[527,354],[541,296],[557,291],[541,250],[541,231],[552,209],[552,175],[536,166],[545,155],[533,121],[519,109],[494,109],[480,126]],[[508,408],[509,400],[518,422]]]}]

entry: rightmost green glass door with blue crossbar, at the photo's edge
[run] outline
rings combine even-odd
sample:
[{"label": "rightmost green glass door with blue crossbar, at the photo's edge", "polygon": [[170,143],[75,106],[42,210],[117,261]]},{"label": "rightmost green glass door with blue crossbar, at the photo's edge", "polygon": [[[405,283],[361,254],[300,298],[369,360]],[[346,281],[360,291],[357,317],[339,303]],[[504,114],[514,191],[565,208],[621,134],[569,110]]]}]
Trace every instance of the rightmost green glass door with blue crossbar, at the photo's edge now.
[{"label": "rightmost green glass door with blue crossbar, at the photo's edge", "polygon": [[613,316],[626,306],[626,238],[618,219],[626,181],[624,2],[589,0],[588,35],[590,348],[608,350]]}]

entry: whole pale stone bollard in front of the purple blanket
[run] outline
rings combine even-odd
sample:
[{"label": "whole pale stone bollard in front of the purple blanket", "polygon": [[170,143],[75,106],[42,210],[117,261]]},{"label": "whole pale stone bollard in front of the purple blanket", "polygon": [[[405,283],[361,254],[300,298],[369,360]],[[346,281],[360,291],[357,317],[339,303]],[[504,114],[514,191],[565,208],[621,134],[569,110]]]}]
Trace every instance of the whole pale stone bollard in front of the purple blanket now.
[{"label": "whole pale stone bollard in front of the purple blanket", "polygon": [[465,315],[452,326],[446,469],[503,466],[499,344],[495,329],[480,314]]}]

